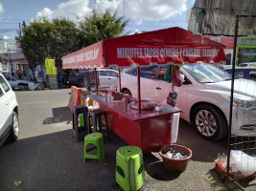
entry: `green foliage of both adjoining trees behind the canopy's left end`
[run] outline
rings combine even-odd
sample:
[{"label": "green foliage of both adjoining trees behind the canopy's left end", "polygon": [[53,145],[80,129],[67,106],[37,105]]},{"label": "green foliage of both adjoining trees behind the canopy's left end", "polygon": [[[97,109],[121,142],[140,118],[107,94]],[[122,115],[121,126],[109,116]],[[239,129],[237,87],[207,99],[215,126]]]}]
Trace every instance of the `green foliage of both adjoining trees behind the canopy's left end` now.
[{"label": "green foliage of both adjoining trees behind the canopy's left end", "polygon": [[109,11],[99,13],[95,10],[79,23],[79,27],[65,18],[50,21],[42,17],[24,25],[17,39],[31,67],[44,65],[47,57],[55,58],[57,65],[61,66],[63,55],[100,40],[119,36],[128,24],[128,20],[123,20],[116,13],[111,15]]}]

